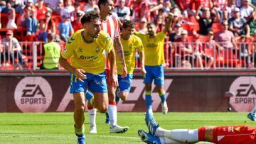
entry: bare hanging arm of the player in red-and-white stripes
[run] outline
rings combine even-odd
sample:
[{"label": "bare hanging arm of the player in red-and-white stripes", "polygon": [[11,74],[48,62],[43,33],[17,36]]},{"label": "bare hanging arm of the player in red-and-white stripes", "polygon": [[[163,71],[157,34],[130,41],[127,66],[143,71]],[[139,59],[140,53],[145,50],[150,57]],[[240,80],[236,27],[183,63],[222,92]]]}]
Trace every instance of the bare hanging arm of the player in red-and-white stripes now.
[{"label": "bare hanging arm of the player in red-and-white stripes", "polygon": [[124,61],[124,49],[122,48],[120,38],[114,38],[114,48],[117,50],[117,55],[122,62],[122,77],[127,77],[127,67]]}]

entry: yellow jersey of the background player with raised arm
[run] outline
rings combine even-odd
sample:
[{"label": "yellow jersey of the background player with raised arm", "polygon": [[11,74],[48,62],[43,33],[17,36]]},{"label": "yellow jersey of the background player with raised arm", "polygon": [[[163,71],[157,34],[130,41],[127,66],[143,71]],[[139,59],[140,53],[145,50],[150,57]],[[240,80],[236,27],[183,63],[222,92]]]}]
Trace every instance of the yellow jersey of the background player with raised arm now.
[{"label": "yellow jersey of the background player with raised arm", "polygon": [[142,39],[144,45],[145,65],[156,66],[164,64],[164,38],[166,33],[161,31],[154,38],[149,38],[149,35],[142,33],[136,33],[136,35]]}]

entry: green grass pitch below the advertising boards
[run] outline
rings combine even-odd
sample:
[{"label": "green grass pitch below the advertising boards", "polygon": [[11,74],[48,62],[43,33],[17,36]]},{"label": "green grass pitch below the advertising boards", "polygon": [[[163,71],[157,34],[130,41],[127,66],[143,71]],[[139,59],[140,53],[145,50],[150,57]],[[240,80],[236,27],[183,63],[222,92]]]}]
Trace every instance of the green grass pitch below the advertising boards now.
[{"label": "green grass pitch below the advertising boards", "polygon": [[[162,128],[199,128],[201,126],[249,125],[247,113],[154,113]],[[90,124],[85,113],[88,144],[142,143],[137,131],[147,131],[144,113],[118,113],[118,124],[129,126],[127,133],[110,134],[105,114],[97,113],[97,134],[88,133]],[[0,143],[76,143],[73,113],[0,113]]]}]

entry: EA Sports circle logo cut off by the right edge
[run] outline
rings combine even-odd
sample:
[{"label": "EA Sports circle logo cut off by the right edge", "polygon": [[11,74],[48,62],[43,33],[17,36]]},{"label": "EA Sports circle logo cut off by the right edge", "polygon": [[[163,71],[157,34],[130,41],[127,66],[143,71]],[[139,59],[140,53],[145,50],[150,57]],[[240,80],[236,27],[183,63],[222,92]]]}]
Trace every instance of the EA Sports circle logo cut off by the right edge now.
[{"label": "EA Sports circle logo cut off by the right edge", "polygon": [[230,105],[235,111],[251,111],[256,104],[256,77],[238,77],[231,84]]}]

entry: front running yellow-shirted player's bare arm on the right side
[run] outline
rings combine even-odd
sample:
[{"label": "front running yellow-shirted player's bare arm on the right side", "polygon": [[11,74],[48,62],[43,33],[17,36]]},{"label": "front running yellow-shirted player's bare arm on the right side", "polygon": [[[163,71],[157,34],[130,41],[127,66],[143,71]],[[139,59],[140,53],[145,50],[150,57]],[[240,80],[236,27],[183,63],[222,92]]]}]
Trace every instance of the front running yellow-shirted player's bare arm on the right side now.
[{"label": "front running yellow-shirted player's bare arm on the right side", "polygon": [[110,81],[110,84],[114,84],[113,87],[118,87],[118,81],[117,79],[114,78],[114,67],[116,67],[116,62],[115,62],[115,53],[114,53],[114,48],[110,50],[110,52],[107,54],[110,60],[110,78],[108,79]]}]

